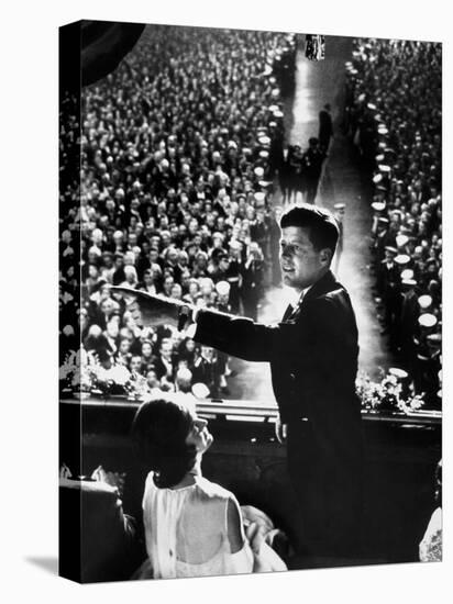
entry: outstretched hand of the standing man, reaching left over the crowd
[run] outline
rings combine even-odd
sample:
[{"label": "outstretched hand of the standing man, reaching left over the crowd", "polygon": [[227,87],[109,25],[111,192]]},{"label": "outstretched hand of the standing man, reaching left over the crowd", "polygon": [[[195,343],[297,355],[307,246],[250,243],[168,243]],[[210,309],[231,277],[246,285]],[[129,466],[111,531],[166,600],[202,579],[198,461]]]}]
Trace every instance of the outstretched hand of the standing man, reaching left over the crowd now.
[{"label": "outstretched hand of the standing man, reaching left over the crowd", "polygon": [[135,323],[141,327],[154,327],[157,325],[173,325],[177,327],[179,309],[187,306],[179,300],[165,298],[164,295],[152,295],[151,293],[112,286],[111,293],[121,294],[126,303]]}]

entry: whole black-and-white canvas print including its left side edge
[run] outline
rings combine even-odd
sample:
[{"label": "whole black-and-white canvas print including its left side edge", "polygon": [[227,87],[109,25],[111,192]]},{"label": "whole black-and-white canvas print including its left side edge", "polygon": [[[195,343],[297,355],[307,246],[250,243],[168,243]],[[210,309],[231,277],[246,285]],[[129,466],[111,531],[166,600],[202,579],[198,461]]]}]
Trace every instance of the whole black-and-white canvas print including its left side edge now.
[{"label": "whole black-and-white canvas print including its left side edge", "polygon": [[442,44],[59,53],[60,574],[441,561]]}]

